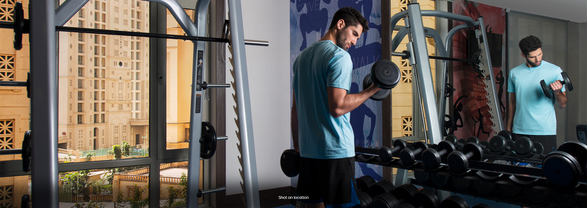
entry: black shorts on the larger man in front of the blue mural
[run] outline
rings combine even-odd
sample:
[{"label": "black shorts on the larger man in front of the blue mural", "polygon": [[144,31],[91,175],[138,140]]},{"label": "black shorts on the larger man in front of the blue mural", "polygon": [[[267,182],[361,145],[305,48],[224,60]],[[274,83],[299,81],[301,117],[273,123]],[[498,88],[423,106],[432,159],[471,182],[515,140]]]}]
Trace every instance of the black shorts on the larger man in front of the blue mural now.
[{"label": "black shorts on the larger man in front of the blue mural", "polygon": [[296,196],[303,203],[324,202],[325,207],[359,204],[355,186],[355,157],[312,159],[301,157]]}]

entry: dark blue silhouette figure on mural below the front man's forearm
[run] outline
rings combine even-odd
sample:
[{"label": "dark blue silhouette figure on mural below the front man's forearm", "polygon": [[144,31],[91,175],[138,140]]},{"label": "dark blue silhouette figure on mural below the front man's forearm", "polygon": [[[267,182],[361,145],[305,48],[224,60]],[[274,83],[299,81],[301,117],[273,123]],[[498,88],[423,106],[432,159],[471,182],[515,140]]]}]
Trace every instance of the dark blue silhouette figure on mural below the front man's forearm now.
[{"label": "dark blue silhouette figure on mural below the front man's forearm", "polygon": [[[359,84],[356,82],[350,83],[350,93],[358,93],[359,92]],[[371,118],[371,129],[369,130],[369,136],[365,139],[363,135],[363,123],[365,122],[365,116]],[[375,130],[375,123],[377,118],[375,117],[375,113],[369,107],[362,103],[359,107],[355,110],[350,112],[350,126],[353,128],[353,133],[355,134],[355,145],[360,145],[363,147],[369,147],[373,145],[373,131]],[[370,167],[367,167],[366,163],[357,162],[359,167],[361,168],[361,172],[363,175],[369,175],[373,177],[373,179],[379,181],[383,179],[375,170]]]}]

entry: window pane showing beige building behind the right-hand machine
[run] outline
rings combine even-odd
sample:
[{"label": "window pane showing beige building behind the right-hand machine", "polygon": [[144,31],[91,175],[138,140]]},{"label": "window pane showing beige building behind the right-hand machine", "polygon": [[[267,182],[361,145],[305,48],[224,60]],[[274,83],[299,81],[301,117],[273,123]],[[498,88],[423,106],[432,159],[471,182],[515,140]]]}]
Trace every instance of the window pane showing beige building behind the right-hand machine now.
[{"label": "window pane showing beige building behind the right-hand machine", "polygon": [[[410,0],[392,0],[391,1],[391,12],[396,14],[398,12],[406,10],[407,4],[413,3]],[[436,10],[436,2],[429,1],[429,0],[422,0],[418,1],[420,4],[420,9],[423,10]],[[434,16],[424,16],[423,17],[424,26],[427,28],[436,28],[436,17]],[[397,22],[397,25],[404,25],[403,20]],[[398,31],[393,31],[393,36],[397,34]],[[435,54],[434,41],[432,38],[426,38],[428,44],[428,51],[429,55]],[[402,52],[406,50],[406,43],[408,42],[408,37],[403,39],[402,43],[397,47],[395,50],[396,52]],[[413,88],[413,77],[412,77],[412,69],[407,61],[407,59],[402,60],[399,56],[392,56],[392,61],[396,63],[396,65],[400,68],[400,73],[402,78],[400,78],[400,82],[397,84],[395,88],[392,89],[392,136],[394,138],[397,137],[405,137],[405,136],[413,136],[414,129],[413,129],[413,121],[417,120],[414,118],[413,112],[414,107],[416,107],[417,111],[420,111],[420,106],[414,106],[413,103],[413,96],[414,91]],[[436,63],[434,59],[430,59],[430,66],[432,70],[432,74],[436,74]],[[436,76],[433,77],[433,82],[436,83]]]}]

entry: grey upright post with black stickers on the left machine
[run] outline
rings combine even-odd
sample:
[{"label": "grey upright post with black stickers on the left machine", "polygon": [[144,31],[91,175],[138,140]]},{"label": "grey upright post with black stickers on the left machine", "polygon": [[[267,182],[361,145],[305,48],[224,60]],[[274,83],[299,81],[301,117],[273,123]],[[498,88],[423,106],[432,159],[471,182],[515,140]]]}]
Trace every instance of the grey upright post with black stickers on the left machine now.
[{"label": "grey upright post with black stickers on the left machine", "polygon": [[[206,18],[210,0],[200,0],[195,6],[196,36],[206,35]],[[184,11],[181,9],[181,11]],[[184,12],[185,13],[185,12]],[[191,22],[191,21],[189,21]],[[189,23],[188,22],[188,23]],[[198,190],[200,188],[200,135],[202,134],[202,83],[204,82],[205,42],[193,41],[194,58],[191,82],[191,116],[190,116],[190,150],[188,153],[187,208],[198,207]]]}]

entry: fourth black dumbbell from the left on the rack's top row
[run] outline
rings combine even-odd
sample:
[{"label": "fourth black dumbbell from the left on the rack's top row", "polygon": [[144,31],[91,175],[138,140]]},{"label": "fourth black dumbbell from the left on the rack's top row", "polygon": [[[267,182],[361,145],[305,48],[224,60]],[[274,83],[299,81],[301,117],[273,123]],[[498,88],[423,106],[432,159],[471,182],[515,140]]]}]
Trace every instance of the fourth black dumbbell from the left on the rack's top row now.
[{"label": "fourth black dumbbell from the left on the rack's top row", "polygon": [[448,167],[453,173],[464,173],[469,168],[469,159],[483,160],[483,149],[475,143],[467,143],[463,152],[454,151],[448,154]]}]

